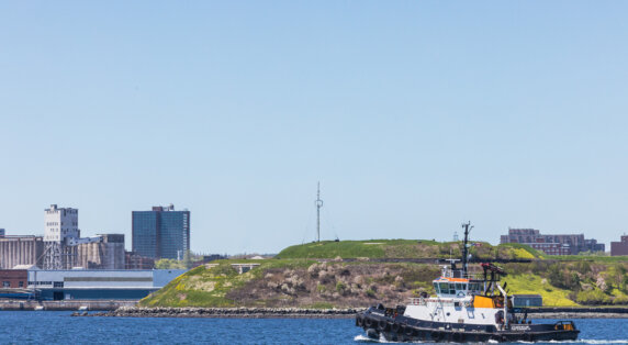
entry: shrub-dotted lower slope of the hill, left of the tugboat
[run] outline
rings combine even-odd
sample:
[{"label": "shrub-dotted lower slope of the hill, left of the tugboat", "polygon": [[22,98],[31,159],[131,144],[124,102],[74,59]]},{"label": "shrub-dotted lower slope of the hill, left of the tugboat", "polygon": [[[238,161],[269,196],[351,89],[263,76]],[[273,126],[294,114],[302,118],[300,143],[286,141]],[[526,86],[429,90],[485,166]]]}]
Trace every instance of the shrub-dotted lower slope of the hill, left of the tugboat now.
[{"label": "shrub-dotted lower slope of the hill, left of the tugboat", "polygon": [[413,263],[267,259],[238,275],[224,260],[199,266],[141,301],[145,307],[366,307],[428,290],[439,267]]}]

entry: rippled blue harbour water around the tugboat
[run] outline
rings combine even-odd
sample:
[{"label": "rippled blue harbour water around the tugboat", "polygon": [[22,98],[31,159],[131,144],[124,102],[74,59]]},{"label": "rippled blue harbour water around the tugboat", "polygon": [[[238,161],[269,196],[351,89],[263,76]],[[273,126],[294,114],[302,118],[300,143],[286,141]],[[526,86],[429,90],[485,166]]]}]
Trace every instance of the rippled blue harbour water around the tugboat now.
[{"label": "rippled blue harbour water around the tugboat", "polygon": [[[0,312],[0,344],[360,344],[352,319],[71,318]],[[547,322],[552,322],[547,320]],[[628,344],[628,319],[576,319],[575,344]],[[562,343],[561,343],[562,344]],[[565,343],[568,344],[568,343]]]}]

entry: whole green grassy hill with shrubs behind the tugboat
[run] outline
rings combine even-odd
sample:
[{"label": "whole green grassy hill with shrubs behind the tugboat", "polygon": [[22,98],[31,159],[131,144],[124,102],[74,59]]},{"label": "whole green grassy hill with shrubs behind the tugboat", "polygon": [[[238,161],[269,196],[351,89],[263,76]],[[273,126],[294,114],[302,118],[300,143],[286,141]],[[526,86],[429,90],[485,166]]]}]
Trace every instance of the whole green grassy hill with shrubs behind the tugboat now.
[{"label": "whole green grassy hill with shrubs behind the tugboat", "polygon": [[[377,240],[322,242],[291,246],[277,258],[246,260],[258,267],[238,275],[243,260],[199,266],[139,302],[145,307],[343,308],[405,303],[439,276],[436,264],[382,263],[380,258],[460,257],[460,243]],[[509,293],[540,293],[545,305],[628,304],[628,261],[596,257],[554,260],[520,245],[473,246],[471,254],[505,263]],[[344,258],[352,258],[345,260]],[[476,265],[472,269],[480,270]]]}]

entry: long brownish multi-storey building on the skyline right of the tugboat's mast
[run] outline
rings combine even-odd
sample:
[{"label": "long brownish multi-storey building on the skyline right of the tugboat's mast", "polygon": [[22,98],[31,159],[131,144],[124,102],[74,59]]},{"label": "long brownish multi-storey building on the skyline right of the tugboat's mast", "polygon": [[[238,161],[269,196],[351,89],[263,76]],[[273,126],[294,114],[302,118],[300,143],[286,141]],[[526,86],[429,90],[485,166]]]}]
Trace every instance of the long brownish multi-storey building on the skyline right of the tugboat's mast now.
[{"label": "long brownish multi-storey building on the skyline right of the tugboat's mast", "polygon": [[535,229],[508,229],[507,235],[502,235],[504,243],[522,243],[542,251],[548,255],[576,255],[581,252],[604,252],[603,243],[593,238],[584,238],[584,234],[543,235]]}]

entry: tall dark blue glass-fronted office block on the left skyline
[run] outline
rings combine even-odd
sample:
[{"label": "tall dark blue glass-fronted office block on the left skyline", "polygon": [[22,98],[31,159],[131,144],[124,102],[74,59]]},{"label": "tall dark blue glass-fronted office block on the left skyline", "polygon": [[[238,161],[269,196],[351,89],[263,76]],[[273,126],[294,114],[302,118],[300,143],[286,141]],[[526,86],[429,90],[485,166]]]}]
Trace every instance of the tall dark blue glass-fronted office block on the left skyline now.
[{"label": "tall dark blue glass-fronted office block on the left skyline", "polygon": [[133,211],[133,252],[150,258],[182,259],[190,249],[190,211],[175,205]]}]

